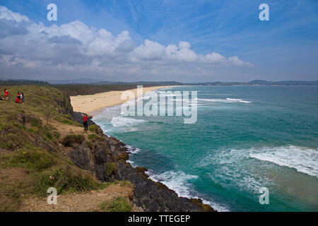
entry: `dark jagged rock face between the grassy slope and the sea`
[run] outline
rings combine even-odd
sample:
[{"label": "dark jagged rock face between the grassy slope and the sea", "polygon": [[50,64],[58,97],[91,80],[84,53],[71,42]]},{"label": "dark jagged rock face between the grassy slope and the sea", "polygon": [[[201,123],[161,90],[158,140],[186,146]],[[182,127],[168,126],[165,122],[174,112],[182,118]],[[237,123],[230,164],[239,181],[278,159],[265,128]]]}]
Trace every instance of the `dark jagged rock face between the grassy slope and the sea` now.
[{"label": "dark jagged rock face between the grassy slope and the sea", "polygon": [[[73,112],[72,115],[74,120],[81,123],[80,113]],[[94,124],[94,122],[90,120],[88,124]],[[93,144],[84,141],[71,147],[71,150],[67,152],[68,157],[76,166],[92,172],[102,182],[127,180],[134,184],[132,201],[136,206],[153,212],[215,211],[199,199],[178,197],[175,191],[168,189],[164,184],[153,182],[145,173],[146,168],[134,168],[126,162],[129,155],[124,143],[116,138],[100,135],[102,139],[96,139],[92,142]]]}]

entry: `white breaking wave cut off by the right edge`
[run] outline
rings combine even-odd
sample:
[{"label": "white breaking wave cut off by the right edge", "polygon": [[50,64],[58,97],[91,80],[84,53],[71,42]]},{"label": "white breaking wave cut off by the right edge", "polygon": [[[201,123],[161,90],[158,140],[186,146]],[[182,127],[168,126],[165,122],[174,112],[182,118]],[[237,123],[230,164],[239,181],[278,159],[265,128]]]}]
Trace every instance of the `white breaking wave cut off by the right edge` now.
[{"label": "white breaking wave cut off by the right edge", "polygon": [[273,162],[276,165],[290,167],[298,172],[318,178],[318,149],[298,146],[282,146],[276,148],[261,148],[249,157],[261,161]]}]

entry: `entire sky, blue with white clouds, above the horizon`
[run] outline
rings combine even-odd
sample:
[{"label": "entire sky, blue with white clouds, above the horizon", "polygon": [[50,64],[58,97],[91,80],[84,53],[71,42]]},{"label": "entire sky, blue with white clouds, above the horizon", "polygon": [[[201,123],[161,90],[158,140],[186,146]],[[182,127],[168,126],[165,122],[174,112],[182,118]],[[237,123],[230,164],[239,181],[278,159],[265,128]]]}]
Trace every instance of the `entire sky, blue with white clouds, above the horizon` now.
[{"label": "entire sky, blue with white clouds, above the horizon", "polygon": [[317,81],[318,1],[0,0],[0,78]]}]

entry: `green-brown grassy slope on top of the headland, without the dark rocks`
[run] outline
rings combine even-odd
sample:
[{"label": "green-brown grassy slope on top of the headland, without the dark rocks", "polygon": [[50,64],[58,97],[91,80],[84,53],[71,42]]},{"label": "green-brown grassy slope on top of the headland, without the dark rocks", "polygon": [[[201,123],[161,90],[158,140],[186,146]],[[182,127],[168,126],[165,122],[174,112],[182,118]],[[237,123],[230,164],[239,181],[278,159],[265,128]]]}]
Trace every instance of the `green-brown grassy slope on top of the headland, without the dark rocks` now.
[{"label": "green-brown grassy slope on top of the headland, without the dark rocks", "polygon": [[[16,210],[23,198],[45,197],[50,186],[58,194],[69,194],[109,185],[61,155],[65,141],[61,128],[69,126],[71,131],[83,133],[82,125],[71,120],[67,95],[49,86],[6,88],[9,102],[0,101],[0,210]],[[18,91],[25,95],[23,105],[14,102]],[[87,139],[93,131],[79,136]]]}]

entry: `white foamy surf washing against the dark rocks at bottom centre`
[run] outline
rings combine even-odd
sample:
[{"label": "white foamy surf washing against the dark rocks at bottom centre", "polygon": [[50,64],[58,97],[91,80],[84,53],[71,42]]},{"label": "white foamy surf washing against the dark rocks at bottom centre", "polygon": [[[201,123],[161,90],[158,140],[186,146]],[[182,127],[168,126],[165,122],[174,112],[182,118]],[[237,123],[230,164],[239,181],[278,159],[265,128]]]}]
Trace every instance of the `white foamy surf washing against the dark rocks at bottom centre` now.
[{"label": "white foamy surf washing against the dark rocks at bottom centre", "polygon": [[[192,195],[195,191],[191,191],[191,184],[189,184],[189,180],[191,179],[197,179],[198,176],[191,175],[191,174],[185,174],[182,171],[166,171],[162,174],[154,174],[151,169],[148,169],[146,174],[149,175],[150,179],[152,179],[154,182],[160,182],[162,184],[165,184],[169,189],[172,189],[175,191],[178,196],[186,197],[186,198],[200,198],[198,196]],[[202,198],[201,198],[202,199]],[[220,206],[218,203],[214,203],[213,201],[206,201],[202,199],[202,202],[204,204],[210,205],[212,208],[219,212],[227,212],[229,211],[228,208],[225,206]]]}]

